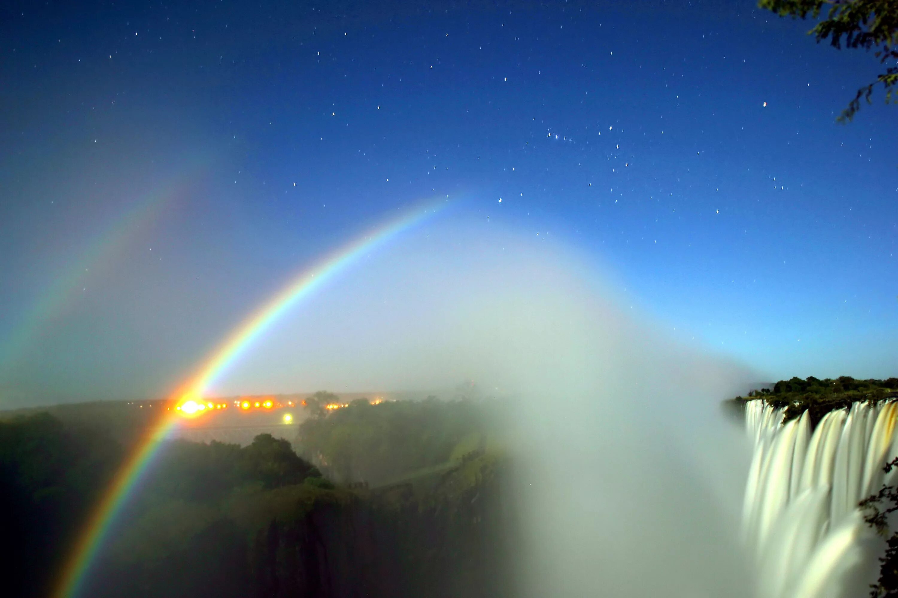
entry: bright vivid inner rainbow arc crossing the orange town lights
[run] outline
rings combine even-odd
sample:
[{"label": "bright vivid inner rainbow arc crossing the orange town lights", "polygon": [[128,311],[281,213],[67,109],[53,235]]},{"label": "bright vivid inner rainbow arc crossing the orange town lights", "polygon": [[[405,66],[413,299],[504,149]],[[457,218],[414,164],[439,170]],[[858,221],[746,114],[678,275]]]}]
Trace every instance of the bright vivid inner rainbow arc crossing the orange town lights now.
[{"label": "bright vivid inner rainbow arc crossing the orange town lights", "polygon": [[[383,245],[402,230],[407,230],[428,216],[439,212],[444,205],[428,204],[418,210],[407,212],[398,220],[358,238],[321,260],[312,268],[304,270],[277,295],[244,319],[242,324],[238,325],[231,334],[228,334],[225,342],[218,345],[216,351],[199,368],[198,373],[190,378],[188,384],[180,387],[174,398],[186,401],[189,398],[202,396],[207,387],[289,308],[308,297],[314,290],[352,264],[359,256]],[[161,441],[177,426],[179,420],[180,415],[175,412],[163,412],[159,425],[151,426],[145,437],[137,442],[136,450],[116,473],[100,503],[94,508],[92,515],[84,525],[82,533],[78,536],[69,559],[66,560],[65,568],[61,572],[56,590],[52,594],[55,598],[75,598],[79,594],[97,554],[110,533],[112,524],[115,523],[122,507],[126,504],[131,490],[152,463],[154,455],[161,446]]]}]

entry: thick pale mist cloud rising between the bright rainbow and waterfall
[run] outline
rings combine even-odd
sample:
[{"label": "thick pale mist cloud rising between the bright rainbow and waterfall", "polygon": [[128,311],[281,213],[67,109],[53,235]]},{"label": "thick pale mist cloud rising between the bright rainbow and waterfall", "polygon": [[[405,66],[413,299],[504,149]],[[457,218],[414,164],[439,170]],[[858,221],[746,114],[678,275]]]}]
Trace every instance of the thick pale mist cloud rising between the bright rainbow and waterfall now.
[{"label": "thick pale mist cloud rising between the bright rainbow and waterfall", "polygon": [[750,452],[719,405],[758,375],[672,331],[563,240],[456,215],[294,308],[216,391],[469,380],[514,405],[519,594],[749,595]]}]

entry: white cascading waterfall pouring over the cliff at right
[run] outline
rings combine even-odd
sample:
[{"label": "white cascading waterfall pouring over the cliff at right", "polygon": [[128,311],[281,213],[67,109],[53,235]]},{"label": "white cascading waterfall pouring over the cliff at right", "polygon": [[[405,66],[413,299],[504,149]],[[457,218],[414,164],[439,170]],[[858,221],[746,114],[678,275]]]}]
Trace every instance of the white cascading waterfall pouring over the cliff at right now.
[{"label": "white cascading waterfall pouring over the cliff at right", "polygon": [[827,413],[811,431],[807,412],[782,423],[785,409],[745,406],[754,456],[745,487],[744,540],[757,559],[762,598],[841,598],[867,594],[882,541],[858,502],[898,470],[898,403],[854,403]]}]

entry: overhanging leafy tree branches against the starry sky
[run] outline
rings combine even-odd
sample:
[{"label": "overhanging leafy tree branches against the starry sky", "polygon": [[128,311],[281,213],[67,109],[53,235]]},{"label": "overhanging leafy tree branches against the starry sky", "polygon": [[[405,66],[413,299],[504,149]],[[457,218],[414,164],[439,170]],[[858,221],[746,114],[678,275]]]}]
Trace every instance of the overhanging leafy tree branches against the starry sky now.
[{"label": "overhanging leafy tree branches against the starry sky", "polygon": [[860,109],[860,100],[872,103],[870,96],[873,89],[882,84],[885,90],[885,103],[898,101],[894,94],[894,85],[898,83],[898,0],[760,0],[758,3],[779,16],[790,16],[793,19],[819,19],[823,7],[829,6],[826,17],[808,31],[814,34],[817,42],[829,39],[834,48],[863,48],[874,50],[879,64],[891,63],[885,72],[876,76],[876,80],[861,87],[848,108],[841,111],[836,119],[840,123],[850,121]]}]

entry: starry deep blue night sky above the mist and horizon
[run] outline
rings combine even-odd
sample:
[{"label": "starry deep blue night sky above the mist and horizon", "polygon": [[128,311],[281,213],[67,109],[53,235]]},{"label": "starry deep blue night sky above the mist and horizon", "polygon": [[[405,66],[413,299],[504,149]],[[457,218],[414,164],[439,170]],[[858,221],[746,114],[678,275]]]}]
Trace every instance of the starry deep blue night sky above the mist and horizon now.
[{"label": "starry deep blue night sky above the mist and horizon", "polygon": [[752,2],[597,4],[4,3],[0,406],[164,396],[437,198],[767,379],[896,375],[898,113],[834,122],[873,57]]}]

